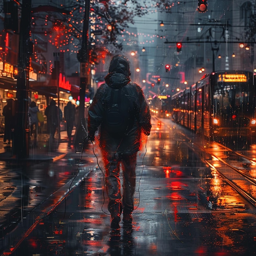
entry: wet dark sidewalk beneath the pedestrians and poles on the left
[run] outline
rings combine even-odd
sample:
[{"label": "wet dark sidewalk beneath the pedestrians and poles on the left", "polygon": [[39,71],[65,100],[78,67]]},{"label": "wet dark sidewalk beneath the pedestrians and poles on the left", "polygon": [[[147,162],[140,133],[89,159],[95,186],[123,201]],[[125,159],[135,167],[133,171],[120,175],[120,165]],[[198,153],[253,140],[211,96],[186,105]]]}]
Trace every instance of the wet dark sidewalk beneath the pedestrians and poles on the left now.
[{"label": "wet dark sidewalk beneath the pedestrians and poles on the left", "polygon": [[[74,132],[75,130],[72,135]],[[38,135],[38,146],[30,145],[29,156],[25,159],[16,159],[13,157],[11,146],[4,144],[3,138],[0,137],[1,243],[4,243],[8,234],[11,234],[20,221],[22,223],[25,221],[22,218],[24,219],[30,211],[37,207],[49,211],[52,209],[49,207],[54,207],[56,202],[70,193],[71,184],[72,187],[77,186],[78,180],[84,175],[79,173],[74,178],[77,166],[74,164],[72,167],[67,164],[70,159],[73,159],[74,163],[77,162],[81,153],[76,153],[73,146],[68,146],[66,131],[61,132],[60,143],[56,150],[49,150],[48,140],[49,135],[44,133]],[[63,168],[58,166],[63,164],[67,166],[67,170],[73,168],[73,172],[62,173]],[[54,171],[55,175],[51,176],[49,173]],[[24,204],[22,214],[19,210],[21,203]]]}]

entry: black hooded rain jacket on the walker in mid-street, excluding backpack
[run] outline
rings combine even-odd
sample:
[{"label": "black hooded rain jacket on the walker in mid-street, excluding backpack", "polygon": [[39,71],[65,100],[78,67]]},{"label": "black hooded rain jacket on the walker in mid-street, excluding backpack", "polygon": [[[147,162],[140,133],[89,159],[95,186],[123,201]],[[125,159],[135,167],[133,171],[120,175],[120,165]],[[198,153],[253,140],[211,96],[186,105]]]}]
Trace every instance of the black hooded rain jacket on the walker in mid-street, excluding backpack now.
[{"label": "black hooded rain jacket on the walker in mid-street, excluding backpack", "polygon": [[[88,131],[94,134],[98,128],[100,146],[106,151],[132,154],[139,150],[141,132],[149,135],[151,129],[150,111],[144,93],[136,83],[130,83],[129,62],[123,56],[112,58],[109,73],[97,90],[88,109]],[[104,123],[104,112],[110,99],[111,88],[121,88],[121,94],[132,99],[132,115],[129,130],[120,138],[108,132]]]}]

